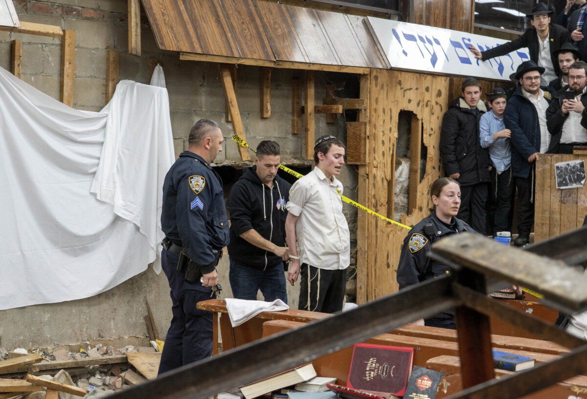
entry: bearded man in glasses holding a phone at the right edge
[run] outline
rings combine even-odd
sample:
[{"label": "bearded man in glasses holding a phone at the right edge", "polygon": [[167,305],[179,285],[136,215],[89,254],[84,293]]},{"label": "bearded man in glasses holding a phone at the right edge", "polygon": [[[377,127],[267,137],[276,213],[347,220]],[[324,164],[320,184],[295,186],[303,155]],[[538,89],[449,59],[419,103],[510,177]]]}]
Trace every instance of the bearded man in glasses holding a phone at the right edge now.
[{"label": "bearded man in glasses holding a phone at the right edge", "polygon": [[572,154],[574,146],[587,146],[587,63],[579,61],[569,67],[569,84],[556,92],[546,110],[551,143],[548,153]]}]

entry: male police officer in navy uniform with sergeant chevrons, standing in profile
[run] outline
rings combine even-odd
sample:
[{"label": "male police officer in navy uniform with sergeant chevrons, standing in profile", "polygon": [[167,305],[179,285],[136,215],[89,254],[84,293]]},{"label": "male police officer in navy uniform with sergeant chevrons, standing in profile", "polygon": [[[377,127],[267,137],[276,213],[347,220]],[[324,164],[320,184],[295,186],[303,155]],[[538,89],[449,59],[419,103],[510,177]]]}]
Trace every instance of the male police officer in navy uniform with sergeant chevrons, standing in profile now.
[{"label": "male police officer in navy uniform with sergeant chevrons, standing in profile", "polygon": [[211,356],[212,313],[196,304],[216,297],[216,265],[229,239],[222,180],[210,166],[222,151],[220,126],[201,119],[188,140],[188,150],[163,183],[161,228],[166,238],[161,264],[171,289],[173,319],[159,374]]}]

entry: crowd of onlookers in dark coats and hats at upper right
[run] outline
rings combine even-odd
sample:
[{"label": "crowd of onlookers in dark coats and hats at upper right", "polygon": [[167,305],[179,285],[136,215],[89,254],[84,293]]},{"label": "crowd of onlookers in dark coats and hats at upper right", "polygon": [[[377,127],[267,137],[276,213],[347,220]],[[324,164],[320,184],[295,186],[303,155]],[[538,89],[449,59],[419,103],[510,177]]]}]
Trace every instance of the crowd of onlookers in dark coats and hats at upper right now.
[{"label": "crowd of onlookers in dark coats and hats at upper right", "polygon": [[561,25],[551,23],[554,12],[538,3],[527,14],[532,28],[518,39],[484,52],[471,46],[480,60],[527,47],[530,60],[510,76],[513,93],[496,87],[486,94],[490,111],[480,101],[480,82],[467,78],[443,117],[440,155],[446,174],[461,185],[457,217],[482,234],[511,231],[517,192],[515,245],[528,244],[534,224],[540,154],[572,154],[573,147],[587,146],[587,63],[581,61],[587,59],[581,50],[587,52],[587,4],[572,3],[559,15]]}]

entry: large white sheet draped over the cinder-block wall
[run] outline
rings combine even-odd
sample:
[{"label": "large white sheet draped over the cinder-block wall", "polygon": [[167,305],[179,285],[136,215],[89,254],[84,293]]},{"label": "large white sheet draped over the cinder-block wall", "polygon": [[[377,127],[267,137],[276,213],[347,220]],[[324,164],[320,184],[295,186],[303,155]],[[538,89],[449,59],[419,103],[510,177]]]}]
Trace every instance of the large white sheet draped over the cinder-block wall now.
[{"label": "large white sheet draped over the cinder-block wall", "polygon": [[154,261],[166,89],[122,81],[102,112],[79,111],[0,68],[0,126],[0,309],[96,295]]}]

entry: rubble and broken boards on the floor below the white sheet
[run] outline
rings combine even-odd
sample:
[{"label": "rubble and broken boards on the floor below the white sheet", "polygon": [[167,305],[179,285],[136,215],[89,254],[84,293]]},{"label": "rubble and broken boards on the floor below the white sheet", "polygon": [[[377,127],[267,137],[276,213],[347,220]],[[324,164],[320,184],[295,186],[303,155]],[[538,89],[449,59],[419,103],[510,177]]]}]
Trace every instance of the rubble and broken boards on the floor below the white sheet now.
[{"label": "rubble and broken boards on the floor below the white sheet", "polygon": [[79,352],[59,349],[52,353],[0,348],[0,398],[104,397],[155,378],[159,348],[157,344],[123,348],[97,344]]}]

